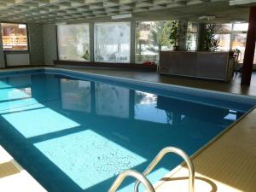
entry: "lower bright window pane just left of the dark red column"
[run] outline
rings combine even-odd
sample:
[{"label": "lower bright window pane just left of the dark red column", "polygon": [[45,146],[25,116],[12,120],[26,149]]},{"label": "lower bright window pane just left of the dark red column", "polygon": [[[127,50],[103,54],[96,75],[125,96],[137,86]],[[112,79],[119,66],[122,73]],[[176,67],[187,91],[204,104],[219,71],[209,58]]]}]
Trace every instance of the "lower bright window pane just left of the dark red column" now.
[{"label": "lower bright window pane just left of the dark red column", "polygon": [[232,49],[238,49],[240,51],[240,54],[238,55],[238,61],[242,62],[244,58],[244,51],[247,41],[247,34],[235,34],[234,40],[232,42]]}]

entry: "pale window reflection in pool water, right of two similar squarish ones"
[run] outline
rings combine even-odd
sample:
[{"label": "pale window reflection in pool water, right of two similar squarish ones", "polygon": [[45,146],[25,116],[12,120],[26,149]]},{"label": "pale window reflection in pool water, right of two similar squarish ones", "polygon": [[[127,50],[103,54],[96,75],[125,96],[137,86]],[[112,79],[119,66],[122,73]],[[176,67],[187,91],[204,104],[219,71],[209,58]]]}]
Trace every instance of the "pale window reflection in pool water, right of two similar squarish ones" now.
[{"label": "pale window reflection in pool water, right of two similar squarish ones", "polygon": [[129,117],[129,90],[112,84],[96,83],[96,113]]}]

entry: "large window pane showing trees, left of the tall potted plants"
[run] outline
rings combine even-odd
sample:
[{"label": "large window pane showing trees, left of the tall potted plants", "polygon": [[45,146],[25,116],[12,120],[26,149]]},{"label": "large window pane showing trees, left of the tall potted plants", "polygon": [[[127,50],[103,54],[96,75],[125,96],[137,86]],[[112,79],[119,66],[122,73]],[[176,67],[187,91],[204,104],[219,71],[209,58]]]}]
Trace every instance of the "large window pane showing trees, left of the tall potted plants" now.
[{"label": "large window pane showing trees, left of the tall potted plants", "polygon": [[157,62],[160,50],[173,49],[169,40],[171,24],[171,20],[137,22],[135,55],[137,63]]}]

